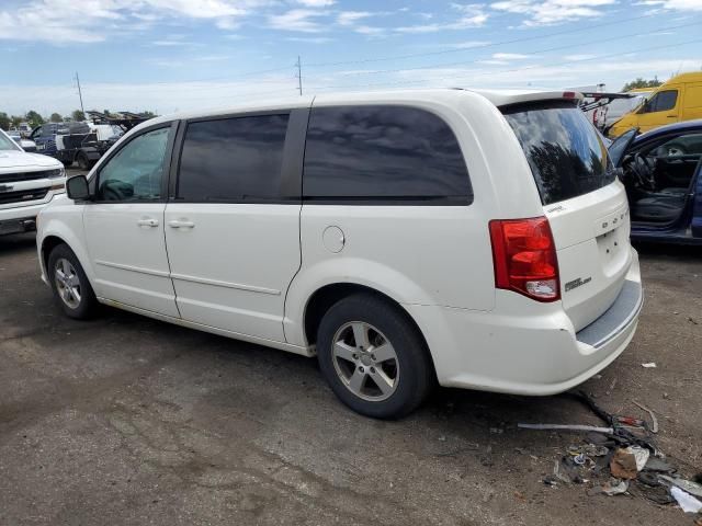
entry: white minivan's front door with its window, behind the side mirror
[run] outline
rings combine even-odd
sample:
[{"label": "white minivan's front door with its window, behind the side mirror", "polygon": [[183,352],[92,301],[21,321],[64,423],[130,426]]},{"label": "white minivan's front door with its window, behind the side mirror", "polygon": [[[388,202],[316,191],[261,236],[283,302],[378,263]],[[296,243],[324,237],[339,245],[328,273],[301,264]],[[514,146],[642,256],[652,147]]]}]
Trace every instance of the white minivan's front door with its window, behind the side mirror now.
[{"label": "white minivan's front door with its window, behind the side mirror", "polygon": [[174,127],[134,136],[102,164],[83,224],[99,297],[178,317],[163,236]]}]

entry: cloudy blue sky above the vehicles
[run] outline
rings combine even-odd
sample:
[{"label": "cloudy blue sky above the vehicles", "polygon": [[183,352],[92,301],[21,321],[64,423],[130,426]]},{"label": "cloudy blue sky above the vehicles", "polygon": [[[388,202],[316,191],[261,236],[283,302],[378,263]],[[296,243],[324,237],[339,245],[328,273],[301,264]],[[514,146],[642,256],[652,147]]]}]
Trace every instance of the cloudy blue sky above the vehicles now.
[{"label": "cloudy blue sky above the vehicles", "polygon": [[0,111],[179,110],[702,69],[702,0],[0,0]]}]

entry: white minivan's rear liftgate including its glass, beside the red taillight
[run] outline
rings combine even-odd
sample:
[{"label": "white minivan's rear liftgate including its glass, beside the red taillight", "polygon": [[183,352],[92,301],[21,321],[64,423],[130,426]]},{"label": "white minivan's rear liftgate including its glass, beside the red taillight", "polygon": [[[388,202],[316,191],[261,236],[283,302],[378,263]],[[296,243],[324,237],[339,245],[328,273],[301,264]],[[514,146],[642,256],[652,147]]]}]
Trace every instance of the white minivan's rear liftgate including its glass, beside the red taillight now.
[{"label": "white minivan's rear liftgate including its glass, beside the red taillight", "polygon": [[620,294],[632,262],[626,192],[595,127],[573,101],[506,106],[556,244],[561,296],[575,330]]}]

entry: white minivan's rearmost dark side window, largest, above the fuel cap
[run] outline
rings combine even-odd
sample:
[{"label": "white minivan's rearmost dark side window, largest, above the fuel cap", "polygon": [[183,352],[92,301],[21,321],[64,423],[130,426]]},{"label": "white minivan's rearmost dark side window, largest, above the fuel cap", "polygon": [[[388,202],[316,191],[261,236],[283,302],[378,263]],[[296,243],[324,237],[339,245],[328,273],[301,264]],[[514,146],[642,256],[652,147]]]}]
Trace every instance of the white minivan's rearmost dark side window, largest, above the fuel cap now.
[{"label": "white minivan's rearmost dark side window, largest, above the fuel cap", "polygon": [[307,198],[441,201],[472,196],[456,138],[440,117],[403,106],[313,108]]}]

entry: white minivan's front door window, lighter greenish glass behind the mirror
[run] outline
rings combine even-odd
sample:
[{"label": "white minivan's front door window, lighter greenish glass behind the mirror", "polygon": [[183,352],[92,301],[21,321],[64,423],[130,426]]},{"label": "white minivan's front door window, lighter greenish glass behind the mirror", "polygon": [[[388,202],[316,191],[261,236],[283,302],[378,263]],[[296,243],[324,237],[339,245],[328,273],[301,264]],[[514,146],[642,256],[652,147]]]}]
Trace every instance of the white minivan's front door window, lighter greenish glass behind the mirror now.
[{"label": "white minivan's front door window, lighter greenish glass behind the mirror", "polygon": [[98,201],[158,201],[170,127],[127,142],[100,169]]}]

